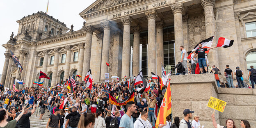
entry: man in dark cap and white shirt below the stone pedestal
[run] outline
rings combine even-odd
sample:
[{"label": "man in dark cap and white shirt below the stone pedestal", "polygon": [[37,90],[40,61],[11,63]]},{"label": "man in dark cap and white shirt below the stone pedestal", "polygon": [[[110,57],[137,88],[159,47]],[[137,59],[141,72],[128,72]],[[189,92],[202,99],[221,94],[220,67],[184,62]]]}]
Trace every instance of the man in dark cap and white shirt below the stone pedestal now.
[{"label": "man in dark cap and white shirt below the stone pedestal", "polygon": [[192,119],[192,113],[194,113],[194,111],[190,111],[189,109],[183,111],[185,117],[181,120],[179,128],[192,128],[191,120],[189,120]]}]

